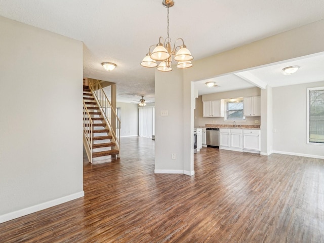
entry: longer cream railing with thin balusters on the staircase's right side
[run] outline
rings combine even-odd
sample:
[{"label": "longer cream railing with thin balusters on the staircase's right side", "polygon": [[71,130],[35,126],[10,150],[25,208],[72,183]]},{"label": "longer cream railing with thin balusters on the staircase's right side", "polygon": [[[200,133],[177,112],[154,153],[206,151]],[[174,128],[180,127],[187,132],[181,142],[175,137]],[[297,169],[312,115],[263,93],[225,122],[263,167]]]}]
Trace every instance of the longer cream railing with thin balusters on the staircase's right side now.
[{"label": "longer cream railing with thin balusters on the staircase's right side", "polygon": [[101,112],[106,120],[111,136],[116,144],[115,148],[120,151],[120,119],[118,118],[115,109],[102,89],[99,80],[89,78],[89,89],[94,94],[95,99],[101,109]]}]

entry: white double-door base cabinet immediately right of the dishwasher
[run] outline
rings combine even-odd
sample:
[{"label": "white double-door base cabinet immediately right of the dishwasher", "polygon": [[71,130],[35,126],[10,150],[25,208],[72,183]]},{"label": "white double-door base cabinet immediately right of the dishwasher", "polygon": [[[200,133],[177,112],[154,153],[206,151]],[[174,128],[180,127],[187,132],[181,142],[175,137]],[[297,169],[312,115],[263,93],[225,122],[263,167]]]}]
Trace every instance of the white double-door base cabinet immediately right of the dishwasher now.
[{"label": "white double-door base cabinet immediately right of the dishwasher", "polygon": [[219,146],[221,149],[242,151],[243,145],[242,129],[220,129]]}]

